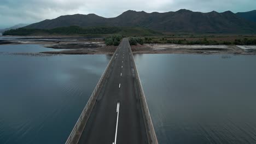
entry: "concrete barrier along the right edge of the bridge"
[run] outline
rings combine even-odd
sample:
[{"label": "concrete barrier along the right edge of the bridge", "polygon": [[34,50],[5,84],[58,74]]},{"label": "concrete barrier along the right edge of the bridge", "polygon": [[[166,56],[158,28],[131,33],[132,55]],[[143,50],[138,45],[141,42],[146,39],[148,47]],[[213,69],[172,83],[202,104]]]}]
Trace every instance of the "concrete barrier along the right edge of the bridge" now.
[{"label": "concrete barrier along the right edge of the bridge", "polygon": [[142,108],[142,112],[143,112],[145,127],[146,127],[146,130],[147,130],[148,143],[158,144],[158,139],[155,135],[154,125],[153,125],[152,119],[150,117],[147,100],[146,100],[146,97],[145,97],[144,92],[143,92],[143,88],[142,88],[142,85],[141,85],[141,79],[139,79],[138,71],[137,71],[137,68],[136,68],[134,57],[132,55],[132,50],[131,50],[130,44],[129,44],[129,49],[130,49],[130,53],[131,53],[131,61],[132,61],[132,64],[133,64],[133,69],[135,69],[135,79],[136,79],[137,86],[138,86],[139,98],[141,100],[141,108]]}]

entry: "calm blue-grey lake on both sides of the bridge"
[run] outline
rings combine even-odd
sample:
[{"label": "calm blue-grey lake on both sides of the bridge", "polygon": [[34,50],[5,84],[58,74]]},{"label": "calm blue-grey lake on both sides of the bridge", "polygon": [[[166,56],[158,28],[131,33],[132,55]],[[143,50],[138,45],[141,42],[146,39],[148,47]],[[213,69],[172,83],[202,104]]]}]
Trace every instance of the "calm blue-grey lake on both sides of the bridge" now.
[{"label": "calm blue-grey lake on both sides of the bridge", "polygon": [[[65,143],[111,58],[11,54],[52,50],[0,45],[0,143]],[[256,56],[135,62],[159,143],[256,143]]]}]

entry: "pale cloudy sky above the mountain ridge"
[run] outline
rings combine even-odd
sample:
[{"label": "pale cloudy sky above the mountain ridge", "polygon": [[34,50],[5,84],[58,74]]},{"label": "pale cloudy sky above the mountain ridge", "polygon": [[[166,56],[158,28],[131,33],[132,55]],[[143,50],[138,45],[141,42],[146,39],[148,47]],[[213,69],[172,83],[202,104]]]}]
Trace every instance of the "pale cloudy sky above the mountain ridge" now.
[{"label": "pale cloudy sky above the mountain ridge", "polygon": [[94,13],[115,17],[126,10],[166,12],[179,9],[210,12],[250,11],[255,0],[0,0],[0,28],[18,23],[34,23],[67,14]]}]

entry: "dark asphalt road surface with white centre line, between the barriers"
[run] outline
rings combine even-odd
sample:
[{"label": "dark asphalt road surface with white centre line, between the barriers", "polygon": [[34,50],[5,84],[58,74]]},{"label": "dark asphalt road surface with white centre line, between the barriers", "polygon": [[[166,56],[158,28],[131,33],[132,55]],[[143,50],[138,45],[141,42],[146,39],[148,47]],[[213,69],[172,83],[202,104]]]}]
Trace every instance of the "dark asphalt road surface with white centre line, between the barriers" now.
[{"label": "dark asphalt road surface with white centre line, between the barriers", "polygon": [[123,39],[78,143],[148,143],[128,46]]}]

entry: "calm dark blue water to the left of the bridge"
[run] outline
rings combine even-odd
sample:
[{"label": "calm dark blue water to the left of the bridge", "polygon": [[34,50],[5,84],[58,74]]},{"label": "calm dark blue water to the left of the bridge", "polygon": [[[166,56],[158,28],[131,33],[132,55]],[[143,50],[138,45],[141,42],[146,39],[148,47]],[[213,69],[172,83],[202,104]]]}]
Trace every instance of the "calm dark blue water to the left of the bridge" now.
[{"label": "calm dark blue water to the left of the bridge", "polygon": [[0,143],[65,143],[109,59],[0,53]]}]

